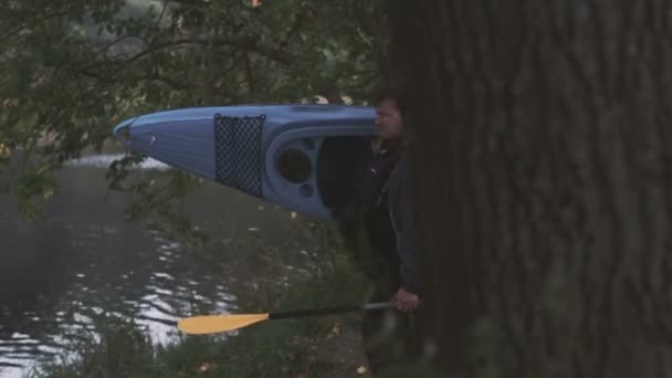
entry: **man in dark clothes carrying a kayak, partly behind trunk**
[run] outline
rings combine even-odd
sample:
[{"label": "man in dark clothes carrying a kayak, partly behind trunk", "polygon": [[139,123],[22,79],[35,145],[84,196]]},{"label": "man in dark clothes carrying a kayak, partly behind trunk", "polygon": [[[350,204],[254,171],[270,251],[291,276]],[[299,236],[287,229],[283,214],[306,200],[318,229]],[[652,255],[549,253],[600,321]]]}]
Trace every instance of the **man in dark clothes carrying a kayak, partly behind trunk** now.
[{"label": "man in dark clothes carrying a kayak, partly behind trunk", "polygon": [[[421,288],[412,241],[403,105],[402,97],[391,90],[376,98],[378,130],[371,168],[353,206],[339,214],[346,220],[353,217],[353,208],[365,206],[364,227],[374,258],[364,262],[375,285],[370,302],[391,300],[399,311],[365,314],[363,336],[372,372],[417,353],[410,313],[420,303]],[[359,258],[365,254],[360,249],[357,252]]]}]

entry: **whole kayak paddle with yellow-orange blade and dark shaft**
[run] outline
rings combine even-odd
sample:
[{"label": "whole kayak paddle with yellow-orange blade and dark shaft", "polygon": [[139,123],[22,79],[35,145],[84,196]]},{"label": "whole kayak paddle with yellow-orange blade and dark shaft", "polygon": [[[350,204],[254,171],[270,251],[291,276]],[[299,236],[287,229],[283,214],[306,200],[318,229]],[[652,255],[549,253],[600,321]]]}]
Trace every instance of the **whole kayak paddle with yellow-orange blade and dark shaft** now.
[{"label": "whole kayak paddle with yellow-orange blade and dark shaft", "polygon": [[177,327],[189,335],[207,335],[233,330],[250,326],[264,321],[286,319],[292,317],[305,317],[317,315],[329,315],[349,313],[357,311],[381,309],[392,307],[391,302],[367,303],[364,305],[350,305],[326,308],[313,308],[266,314],[235,314],[235,315],[201,315],[179,319]]}]

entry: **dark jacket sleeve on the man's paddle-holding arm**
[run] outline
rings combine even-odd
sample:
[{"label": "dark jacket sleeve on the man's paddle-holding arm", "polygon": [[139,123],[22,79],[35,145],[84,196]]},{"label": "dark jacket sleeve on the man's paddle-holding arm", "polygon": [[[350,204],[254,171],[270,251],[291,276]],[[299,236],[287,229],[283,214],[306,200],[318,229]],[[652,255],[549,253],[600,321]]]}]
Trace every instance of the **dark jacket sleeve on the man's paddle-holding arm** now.
[{"label": "dark jacket sleeve on the man's paddle-holding arm", "polygon": [[407,291],[421,294],[421,282],[414,250],[416,228],[406,154],[400,157],[390,174],[387,183],[387,200],[400,261],[399,275],[401,284]]}]

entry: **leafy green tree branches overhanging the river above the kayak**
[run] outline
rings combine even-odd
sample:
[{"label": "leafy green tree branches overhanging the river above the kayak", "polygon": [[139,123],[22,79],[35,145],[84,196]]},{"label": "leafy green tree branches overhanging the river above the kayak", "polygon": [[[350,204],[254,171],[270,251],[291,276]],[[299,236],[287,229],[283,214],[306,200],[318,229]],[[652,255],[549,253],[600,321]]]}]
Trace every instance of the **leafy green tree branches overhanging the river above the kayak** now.
[{"label": "leafy green tree branches overhanging the river above the kayak", "polygon": [[[0,3],[0,177],[23,216],[57,190],[54,174],[101,151],[123,119],[167,108],[313,102],[361,103],[376,83],[377,1],[92,0]],[[7,158],[11,154],[11,158]],[[169,174],[177,190],[147,179],[113,190],[151,198],[132,218],[158,216],[185,229],[183,196],[197,183]],[[8,179],[13,165],[19,166]]]}]

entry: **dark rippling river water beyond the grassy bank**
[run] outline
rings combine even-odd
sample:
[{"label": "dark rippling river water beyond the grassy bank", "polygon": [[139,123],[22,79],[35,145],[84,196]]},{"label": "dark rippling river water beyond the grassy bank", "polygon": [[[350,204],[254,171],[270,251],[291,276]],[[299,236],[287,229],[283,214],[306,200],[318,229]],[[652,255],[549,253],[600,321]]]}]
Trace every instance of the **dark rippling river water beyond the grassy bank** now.
[{"label": "dark rippling river water beyond the grassy bank", "polygon": [[105,181],[118,157],[72,161],[34,224],[0,197],[0,377],[67,356],[103,314],[135,319],[155,343],[174,340],[180,316],[233,311],[267,277],[311,261],[288,211],[212,182],[187,207],[211,237],[202,248],[126,222],[129,198],[107,192]]}]

